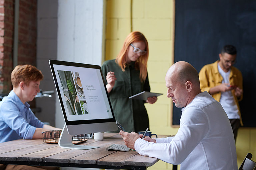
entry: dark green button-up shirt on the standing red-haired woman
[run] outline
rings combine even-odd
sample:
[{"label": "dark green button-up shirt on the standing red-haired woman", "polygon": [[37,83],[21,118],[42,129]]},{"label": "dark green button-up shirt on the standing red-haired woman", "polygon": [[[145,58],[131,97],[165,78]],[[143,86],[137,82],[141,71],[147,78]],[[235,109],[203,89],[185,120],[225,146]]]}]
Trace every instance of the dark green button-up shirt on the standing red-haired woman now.
[{"label": "dark green button-up shirt on the standing red-haired woman", "polygon": [[134,68],[134,63],[131,62],[124,72],[115,60],[105,61],[102,65],[105,81],[109,71],[114,72],[117,78],[109,93],[109,98],[115,119],[121,123],[126,132],[145,131],[146,128],[149,128],[148,114],[144,106],[145,101],[129,99],[130,96],[142,91],[150,91],[148,76],[145,82],[141,82],[140,71]]}]

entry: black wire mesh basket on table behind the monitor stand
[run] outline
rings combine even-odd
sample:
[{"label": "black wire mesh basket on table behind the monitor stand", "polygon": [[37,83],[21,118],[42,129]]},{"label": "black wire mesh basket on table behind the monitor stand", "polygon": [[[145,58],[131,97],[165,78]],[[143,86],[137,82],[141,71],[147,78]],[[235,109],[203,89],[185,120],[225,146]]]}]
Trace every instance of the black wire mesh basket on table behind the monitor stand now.
[{"label": "black wire mesh basket on table behind the monitor stand", "polygon": [[[62,130],[50,130],[50,131],[42,132],[43,142],[44,143],[58,144],[61,132],[62,132]],[[85,142],[88,139],[91,139],[92,135],[93,135],[93,133],[73,135],[72,136],[72,143],[73,144],[79,144],[79,143]]]}]

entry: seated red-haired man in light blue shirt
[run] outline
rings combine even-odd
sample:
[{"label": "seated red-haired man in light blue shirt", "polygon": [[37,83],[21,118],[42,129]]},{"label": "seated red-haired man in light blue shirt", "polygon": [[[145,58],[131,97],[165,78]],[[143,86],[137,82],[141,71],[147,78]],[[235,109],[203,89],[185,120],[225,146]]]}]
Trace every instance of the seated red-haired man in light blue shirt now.
[{"label": "seated red-haired man in light blue shirt", "polygon": [[43,124],[29,108],[40,91],[41,71],[18,65],[11,73],[13,90],[0,102],[0,143],[16,139],[40,139],[42,132],[58,128]]}]

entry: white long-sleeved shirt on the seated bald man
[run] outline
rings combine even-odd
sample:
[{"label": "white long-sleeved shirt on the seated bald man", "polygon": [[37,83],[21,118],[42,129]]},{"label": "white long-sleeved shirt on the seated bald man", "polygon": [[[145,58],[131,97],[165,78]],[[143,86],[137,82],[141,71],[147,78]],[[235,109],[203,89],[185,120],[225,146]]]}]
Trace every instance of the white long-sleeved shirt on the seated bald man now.
[{"label": "white long-sleeved shirt on the seated bald man", "polygon": [[135,141],[135,150],[181,170],[237,170],[236,147],[229,119],[212,96],[199,93],[182,109],[180,128],[174,137]]}]

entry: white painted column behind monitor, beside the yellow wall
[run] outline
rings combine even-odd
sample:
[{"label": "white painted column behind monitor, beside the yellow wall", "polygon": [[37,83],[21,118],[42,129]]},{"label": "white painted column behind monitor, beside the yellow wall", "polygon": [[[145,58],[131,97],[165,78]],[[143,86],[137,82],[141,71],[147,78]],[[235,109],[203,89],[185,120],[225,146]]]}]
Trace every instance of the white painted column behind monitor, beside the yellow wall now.
[{"label": "white painted column behind monitor, beside the yellow wall", "polygon": [[[105,0],[59,0],[57,60],[101,65],[105,40]],[[64,119],[56,99],[55,125]]]}]

